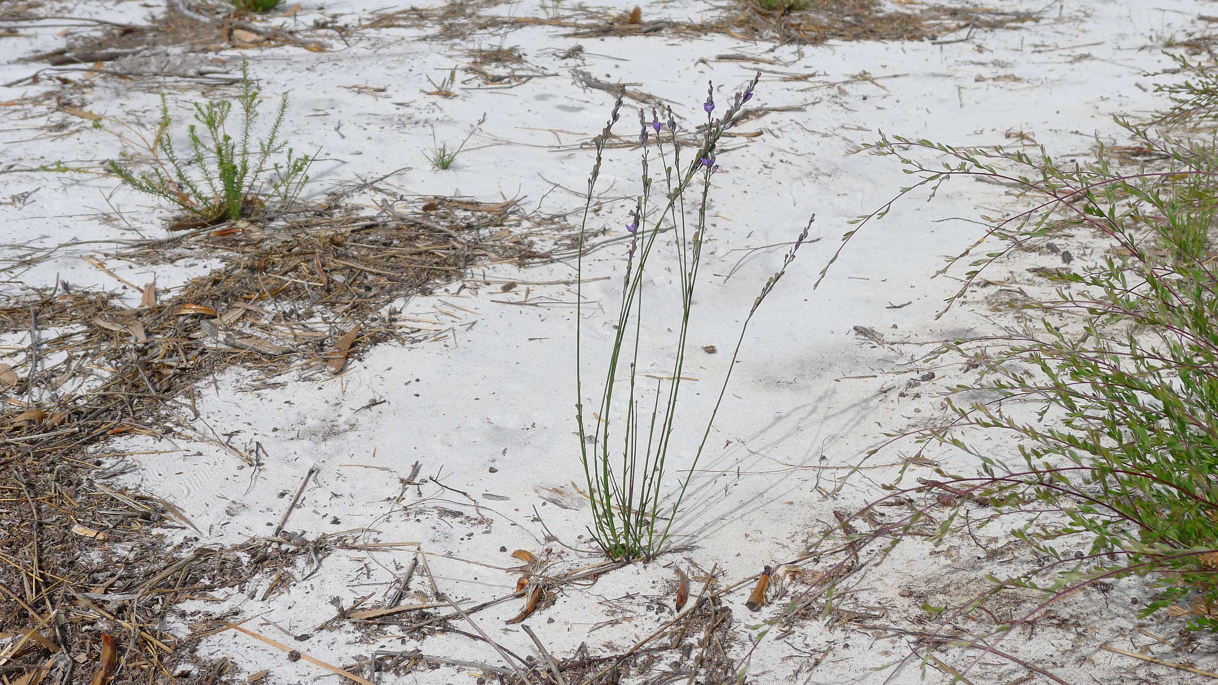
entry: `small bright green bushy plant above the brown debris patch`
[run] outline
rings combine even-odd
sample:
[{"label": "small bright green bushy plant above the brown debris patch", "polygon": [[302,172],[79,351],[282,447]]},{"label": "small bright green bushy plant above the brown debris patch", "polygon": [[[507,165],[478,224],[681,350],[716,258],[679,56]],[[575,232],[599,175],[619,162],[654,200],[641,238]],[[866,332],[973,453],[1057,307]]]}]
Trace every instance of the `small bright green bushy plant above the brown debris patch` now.
[{"label": "small bright green bushy plant above the brown debris patch", "polygon": [[256,135],[258,91],[253,89],[248,66],[242,62],[241,93],[235,102],[238,121],[231,135],[229,117],[234,101],[195,104],[195,123],[186,129],[190,151],[183,157],[169,134],[173,119],[168,100],[162,95],[161,121],[147,145],[144,163],[138,165],[141,168],[133,169],[111,160],[110,171],[132,188],[163,197],[202,218],[238,219],[262,207],[267,200],[291,204],[308,182],[307,171],[313,157],[296,155],[280,138],[287,95],[280,98],[270,128]]}]

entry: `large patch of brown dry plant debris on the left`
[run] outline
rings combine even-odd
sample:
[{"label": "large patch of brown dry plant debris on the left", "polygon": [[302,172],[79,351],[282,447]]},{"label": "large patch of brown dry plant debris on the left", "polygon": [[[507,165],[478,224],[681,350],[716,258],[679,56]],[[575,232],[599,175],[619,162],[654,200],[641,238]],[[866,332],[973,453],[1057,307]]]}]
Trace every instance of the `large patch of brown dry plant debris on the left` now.
[{"label": "large patch of brown dry plant debris on the left", "polygon": [[[281,592],[297,559],[315,569],[341,540],[284,530],[228,548],[195,547],[189,535],[171,546],[161,530],[194,523],[169,502],[107,484],[134,468],[125,462],[134,455],[95,449],[118,434],[183,434],[220,445],[245,462],[239,468],[258,468],[257,445],[225,445],[183,418],[196,382],[234,366],[266,383],[289,372],[329,374],[371,344],[442,336],[398,317],[393,302],[462,280],[470,267],[548,260],[535,241],[561,228],[510,201],[398,197],[391,210],[361,213],[331,197],[93,257],[106,273],[116,260],[220,261],[178,290],[152,285],[150,296],[134,284],[135,308],[116,291],[67,283],[6,297],[0,334],[24,340],[0,369],[0,489],[9,492],[0,507],[0,631],[24,635],[2,655],[10,681],[96,675],[127,685],[223,672],[189,650],[219,624],[177,637],[161,628],[166,612],[261,573],[275,578],[263,598]],[[35,250],[5,271],[54,254]]]}]

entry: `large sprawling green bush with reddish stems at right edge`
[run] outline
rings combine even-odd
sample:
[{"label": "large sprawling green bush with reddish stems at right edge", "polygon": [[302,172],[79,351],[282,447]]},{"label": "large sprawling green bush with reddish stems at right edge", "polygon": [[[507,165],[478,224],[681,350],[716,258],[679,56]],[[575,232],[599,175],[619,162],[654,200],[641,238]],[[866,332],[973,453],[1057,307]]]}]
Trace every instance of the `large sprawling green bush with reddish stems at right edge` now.
[{"label": "large sprawling green bush with reddish stems at right edge", "polygon": [[[1218,80],[1191,71],[1195,82],[1170,88],[1177,107],[1166,118],[1207,122],[1212,130]],[[965,644],[984,640],[987,650],[996,644],[989,637],[1000,639],[1061,598],[1101,580],[1130,577],[1155,589],[1141,616],[1174,605],[1173,616],[1188,616],[1190,628],[1218,630],[1218,273],[1211,239],[1218,145],[1214,138],[1189,140],[1145,124],[1118,123],[1135,147],[1157,161],[1114,167],[1102,145],[1086,165],[1060,165],[1044,152],[1030,156],[896,137],[864,147],[898,157],[916,177],[898,197],[916,189],[933,196],[943,183],[982,177],[1032,199],[1013,216],[983,217],[989,224],[984,238],[1001,239],[1006,247],[972,262],[949,306],[987,266],[1012,250],[1063,230],[1111,241],[1084,273],[1041,272],[1056,282],[1056,293],[1011,305],[1027,314],[1022,330],[940,350],[959,355],[966,368],[979,368],[980,374],[954,389],[950,423],[917,435],[973,455],[979,473],[940,469],[935,479],[920,479],[914,488],[901,488],[898,479],[888,497],[860,513],[885,500],[929,497],[900,520],[853,535],[859,545],[896,545],[915,528],[915,535],[926,535],[931,509],[944,505],[950,513],[932,538],[937,544],[960,531],[965,520],[971,519],[971,531],[1011,522],[1011,534],[1041,563],[1018,577],[994,578],[982,596],[960,606],[927,607],[959,619],[1011,587],[1043,592],[1030,611],[990,634],[951,631]],[[932,167],[915,158],[920,154],[948,161]],[[860,228],[892,206],[889,201],[860,217]],[[847,233],[843,244],[856,230]],[[1019,456],[1011,463],[991,451],[994,441],[983,446],[963,429],[1005,431]],[[965,516],[974,507],[990,511]],[[1077,546],[1088,550],[1067,551]]]}]

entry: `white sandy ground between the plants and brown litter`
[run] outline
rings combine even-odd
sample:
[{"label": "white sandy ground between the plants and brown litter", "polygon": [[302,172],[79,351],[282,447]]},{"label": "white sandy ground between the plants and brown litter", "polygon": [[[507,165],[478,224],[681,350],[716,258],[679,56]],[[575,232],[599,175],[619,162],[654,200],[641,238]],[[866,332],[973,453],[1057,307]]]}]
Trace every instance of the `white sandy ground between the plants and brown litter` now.
[{"label": "white sandy ground between the plants and brown litter", "polygon": [[[637,83],[636,88],[671,101],[683,126],[692,126],[700,118],[708,79],[715,84],[716,99],[726,101],[752,77],[754,65],[715,61],[716,55],[778,62],[759,65],[764,72],[758,102],[804,108],[741,127],[743,133],[761,135],[732,139],[719,158],[722,172],[713,193],[708,275],[695,303],[694,349],[687,367],[697,382],[687,386],[683,407],[691,419],[680,427],[678,460],[685,468],[698,417],[709,410],[725,372],[728,355],[723,351],[781,261],[781,246],[754,249],[793,240],[811,213],[816,213],[815,241],[803,249],[745,339],[710,447],[675,525],[674,542],[683,551],[615,570],[591,586],[564,587],[553,606],[526,622],[552,653],[566,657],[581,644],[593,655],[620,651],[670,620],[677,568],[695,579],[716,568],[720,581],[731,584],[764,564],[800,557],[806,542],[836,524],[834,511],[854,511],[878,496],[877,485],[893,477],[895,464],[914,447],[898,445],[882,452],[875,457],[879,468],[864,472],[827,497],[825,492],[833,490],[845,468],[882,442],[885,433],[928,425],[944,416],[937,392],[963,373],[956,366],[921,361],[928,344],[995,325],[998,314],[987,305],[987,293],[971,295],[937,319],[944,297],[959,282],[931,277],[946,256],[977,236],[976,224],[959,219],[1016,206],[1001,186],[948,185],[933,204],[900,205],[860,233],[823,284],[812,289],[847,222],[875,210],[905,182],[893,160],[845,152],[879,132],[960,145],[1044,145],[1067,158],[1089,154],[1096,138],[1119,144],[1111,116],[1139,116],[1163,106],[1163,98],[1152,93],[1156,77],[1147,76],[1170,63],[1160,48],[1173,32],[1195,28],[1196,16],[1213,10],[1208,2],[1170,0],[1153,6],[1138,0],[1010,1],[1004,6],[1044,10],[1045,15],[1019,28],[943,37],[963,39],[946,44],[776,48],[727,37],[572,39],[551,27],[448,44],[419,40],[420,32],[413,29],[364,29],[350,35],[347,45],[330,40],[333,50],[325,52],[255,48],[224,50],[207,59],[229,69],[248,60],[263,91],[290,94],[289,134],[301,149],[324,151],[311,184],[314,194],[404,167],[387,180],[402,193],[484,201],[524,197],[525,206],[540,213],[582,205],[579,189],[585,186],[591,160],[577,144],[599,130],[611,106],[610,95],[581,89],[571,69]],[[379,2],[307,1],[294,17],[280,21],[307,26],[328,17],[354,26],[384,9]],[[160,6],[136,2],[63,4],[65,15],[110,21],[138,21],[160,11]],[[542,7],[530,2],[487,11],[542,16]],[[648,6],[644,16],[697,20],[711,11],[708,4],[682,1]],[[62,29],[51,21],[43,23],[48,26],[33,24],[22,28],[19,37],[0,38],[6,57],[0,83],[40,68],[21,62],[21,56],[60,44],[56,34]],[[582,45],[582,52],[561,59],[561,51],[575,45]],[[440,80],[448,69],[459,69],[469,62],[463,50],[480,46],[518,48],[525,61],[515,67],[531,69],[536,78],[497,88],[458,71],[456,98],[423,93],[431,89],[428,77]],[[803,78],[790,80],[793,76]],[[44,80],[0,89],[0,100],[17,100],[54,85]],[[352,88],[361,85],[376,90]],[[189,82],[167,87],[96,77],[88,95],[73,106],[113,121],[147,123],[156,117],[162,89],[181,116],[200,91]],[[627,110],[633,105],[627,101]],[[432,141],[459,143],[484,115],[485,123],[453,168],[430,168],[423,154]],[[88,119],[46,107],[5,107],[0,116],[0,169],[5,171],[0,199],[11,197],[0,204],[0,240],[10,244],[0,256],[19,260],[30,245],[163,235],[168,210],[116,188],[113,178],[17,171],[58,161],[89,166],[113,157],[121,144],[106,128],[95,129]],[[632,122],[633,112],[625,119]],[[628,123],[622,130],[632,127]],[[594,221],[596,228],[607,225],[610,235],[621,234],[627,222],[632,202],[625,197],[637,191],[637,150],[609,154],[600,184],[604,210]],[[1085,235],[1071,240],[1075,243],[1061,246],[1084,261],[1102,249]],[[93,288],[124,288],[82,258],[90,250],[74,246],[29,268],[10,266],[6,279],[10,286],[45,285],[57,277]],[[1027,263],[1005,264],[1007,271],[995,273],[1034,288],[1037,279],[1024,268],[1052,266],[1056,258],[1029,255],[1021,257]],[[675,288],[665,271],[674,262],[664,260],[652,267],[653,289]],[[160,288],[172,289],[212,264],[201,255],[155,268],[119,261],[107,267],[136,284],[155,275]],[[609,250],[587,267],[587,278],[610,277],[585,285],[591,303],[585,308],[586,325],[594,350],[603,350],[609,340],[622,264],[621,250]],[[574,264],[527,271],[499,266],[469,275],[521,285],[502,293],[490,285],[459,290],[460,284],[452,283],[429,296],[408,299],[403,314],[435,321],[447,334],[418,345],[370,349],[340,377],[289,374],[266,384],[256,373],[229,372],[201,384],[196,389],[199,416],[188,412],[178,421],[213,440],[138,436],[97,450],[104,455],[160,452],[124,457],[138,468],[122,478],[180,508],[197,533],[183,527],[175,534],[191,536],[199,545],[269,535],[307,473],[311,477],[286,529],[308,540],[346,534],[345,547],[296,569],[295,580],[278,584],[269,596],[266,591],[276,579],[258,578],[241,592],[218,594],[223,601],[181,605],[168,618],[175,629],[188,630],[199,612],[224,613],[230,620],[251,619],[246,628],[333,664],[357,663],[375,650],[420,648],[503,667],[490,645],[459,634],[419,641],[395,626],[317,626],[335,616],[334,597],[345,607],[369,594],[369,606],[378,601],[415,548],[442,555],[429,558],[435,583],[465,606],[513,591],[516,575],[502,570],[519,564],[508,553],[513,550],[548,551],[555,570],[599,558],[587,552],[588,507],[580,494],[585,485],[574,435]],[[559,283],[526,285],[530,282]],[[134,301],[138,293],[130,296]],[[658,302],[652,321],[664,321],[672,311],[672,302]],[[885,342],[857,335],[856,325],[875,329]],[[664,334],[648,335],[661,340]],[[703,352],[706,345],[715,345],[720,353]],[[665,358],[643,364],[647,371],[663,369]],[[933,380],[916,389],[909,385],[927,372],[934,372]],[[246,468],[239,453],[255,450],[262,466]],[[932,450],[927,456],[956,470],[973,468],[951,452]],[[403,483],[415,462],[421,466],[419,478],[434,481]],[[557,540],[549,540],[546,529]],[[994,548],[1006,541],[998,531],[982,539]],[[856,572],[854,592],[840,607],[864,618],[811,617],[792,630],[771,631],[752,652],[755,628],[780,612],[782,602],[750,612],[743,587],[723,597],[733,609],[728,652],[737,659],[750,655],[750,683],[915,683],[923,678],[948,683],[950,675],[933,665],[922,673],[916,661],[899,670],[876,670],[910,655],[910,637],[883,625],[909,625],[924,616],[918,608],[922,602],[959,601],[982,587],[985,573],[1012,573],[1026,561],[1013,553],[987,555],[970,540],[939,548],[911,544],[883,564]],[[409,601],[431,601],[429,585],[415,575]],[[1175,623],[1136,623],[1128,608],[1136,600],[1138,592],[1124,585],[1106,596],[1085,594],[1060,609],[1054,624],[1030,636],[1011,636],[1004,648],[1069,683],[1201,681],[1197,675],[1097,650],[1107,641],[1127,650],[1149,645],[1153,647],[1150,653],[1163,648],[1134,631],[1135,625],[1174,636]],[[518,625],[504,624],[521,603],[504,602],[480,612],[475,620],[504,647],[533,655],[527,635]],[[474,631],[468,624],[460,628]],[[312,636],[294,641],[285,634]],[[1203,652],[1191,657],[1201,668],[1213,661]],[[280,651],[236,631],[208,639],[200,653],[230,656],[242,673],[269,669],[266,683],[312,683],[326,675],[307,661],[290,662]],[[965,668],[976,652],[940,657]],[[972,665],[968,678],[1009,683],[1028,673],[985,656]],[[382,681],[466,683],[475,675],[476,669],[443,667],[386,674]],[[337,680],[335,675],[325,679]],[[1030,681],[1050,680],[1033,674]]]}]

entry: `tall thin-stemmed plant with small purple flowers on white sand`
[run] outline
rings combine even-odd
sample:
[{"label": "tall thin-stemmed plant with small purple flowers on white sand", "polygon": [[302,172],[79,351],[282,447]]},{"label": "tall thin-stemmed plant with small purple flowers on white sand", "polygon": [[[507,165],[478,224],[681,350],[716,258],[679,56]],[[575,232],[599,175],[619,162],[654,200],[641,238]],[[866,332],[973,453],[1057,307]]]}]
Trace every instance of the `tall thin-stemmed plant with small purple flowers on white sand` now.
[{"label": "tall thin-stemmed plant with small purple flowers on white sand", "polygon": [[[792,243],[790,251],[783,258],[782,268],[765,284],[761,294],[753,302],[741,328],[736,350],[727,366],[723,385],[714,410],[706,419],[705,430],[697,436],[693,463],[688,474],[675,491],[665,491],[667,457],[675,442],[685,442],[675,434],[675,421],[678,416],[677,405],[683,378],[686,347],[688,344],[689,321],[693,314],[693,295],[698,283],[702,263],[702,246],[706,236],[706,202],[711,188],[711,177],[719,171],[715,165],[715,147],[719,139],[732,126],[741,107],[753,96],[756,78],[742,91],[737,93],[722,118],[714,118],[713,91],[708,94],[703,108],[706,112],[706,126],[698,152],[692,160],[682,163],[681,146],[677,144],[677,123],[671,110],[667,121],[661,122],[660,115],[652,110],[648,122],[639,110],[639,144],[643,146],[642,193],[636,199],[635,210],[625,228],[628,234],[626,273],[621,285],[621,302],[614,325],[613,347],[604,367],[598,374],[604,378],[600,388],[600,400],[594,413],[583,406],[583,254],[588,238],[588,217],[592,207],[596,183],[600,173],[600,163],[605,144],[611,138],[611,129],[621,110],[621,98],[614,105],[610,121],[596,138],[596,163],[588,178],[587,204],[583,207],[583,221],[580,229],[580,258],[576,283],[576,422],[579,424],[580,456],[587,478],[592,500],[592,518],[596,525],[596,539],[605,553],[615,558],[650,558],[660,550],[667,539],[669,530],[680,511],[681,500],[689,485],[689,478],[697,467],[698,458],[706,444],[710,427],[723,400],[723,392],[731,379],[736,357],[739,355],[744,332],[761,301],[782,278],[787,264],[795,256],[799,245],[808,238],[808,228]],[[652,207],[652,177],[649,162],[652,155],[659,157],[664,168],[665,194],[659,211]],[[695,185],[700,182],[700,188]],[[692,200],[692,212],[686,206],[687,195],[695,194]],[[692,213],[692,217],[687,216]],[[811,222],[809,222],[809,227]],[[648,262],[663,244],[659,236],[671,232],[674,256],[677,262],[681,318],[678,322],[666,322],[677,328],[676,342],[671,350],[648,346],[643,336],[643,306],[646,284],[648,283]],[[649,297],[663,294],[648,293]],[[658,345],[657,345],[658,346]],[[666,379],[658,379],[654,389],[644,386],[638,378],[641,353],[664,356],[671,353],[671,373]],[[626,397],[615,397],[615,384],[624,384]],[[590,417],[591,413],[591,417]],[[590,418],[593,425],[590,427]],[[614,431],[621,424],[620,433]],[[670,503],[665,503],[665,499]]]}]

